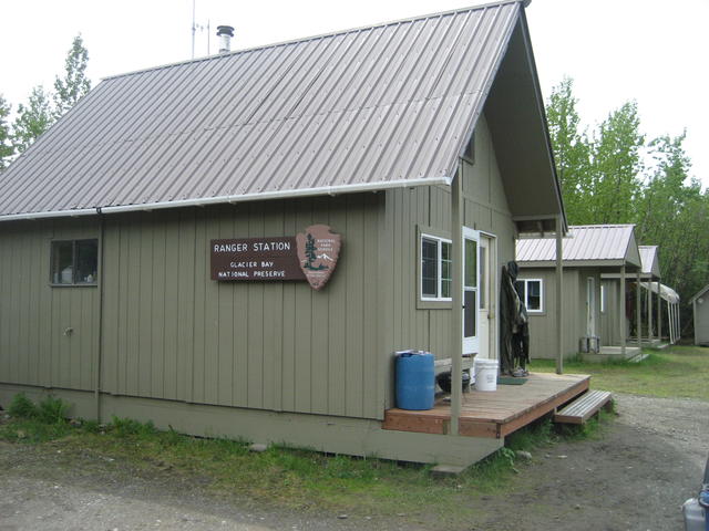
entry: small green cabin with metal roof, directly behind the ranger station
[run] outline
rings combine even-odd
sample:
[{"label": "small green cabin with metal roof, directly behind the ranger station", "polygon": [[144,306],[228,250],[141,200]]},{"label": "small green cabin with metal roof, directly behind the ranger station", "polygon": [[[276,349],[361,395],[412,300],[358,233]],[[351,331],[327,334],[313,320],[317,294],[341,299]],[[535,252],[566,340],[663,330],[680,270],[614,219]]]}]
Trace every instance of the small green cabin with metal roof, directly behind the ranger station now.
[{"label": "small green cabin with metal roof, directly behind the ranger station", "polygon": [[[554,242],[521,238],[516,252],[520,290],[531,305],[531,348],[538,357],[552,357],[553,344],[548,337],[554,337],[558,315],[553,306],[546,310],[545,301],[554,296],[556,289],[553,283],[556,272],[552,269],[556,260]],[[621,357],[638,354],[638,348],[626,345],[630,333],[626,299],[617,294],[626,291],[626,278],[635,279],[641,271],[643,257],[635,239],[635,226],[571,226],[563,240],[562,256],[567,287],[562,306],[563,326],[567,331],[565,355],[580,352],[588,360],[600,360],[616,354]],[[537,299],[530,299],[530,292],[540,293],[538,303]],[[639,292],[635,299],[639,300]]]}]

